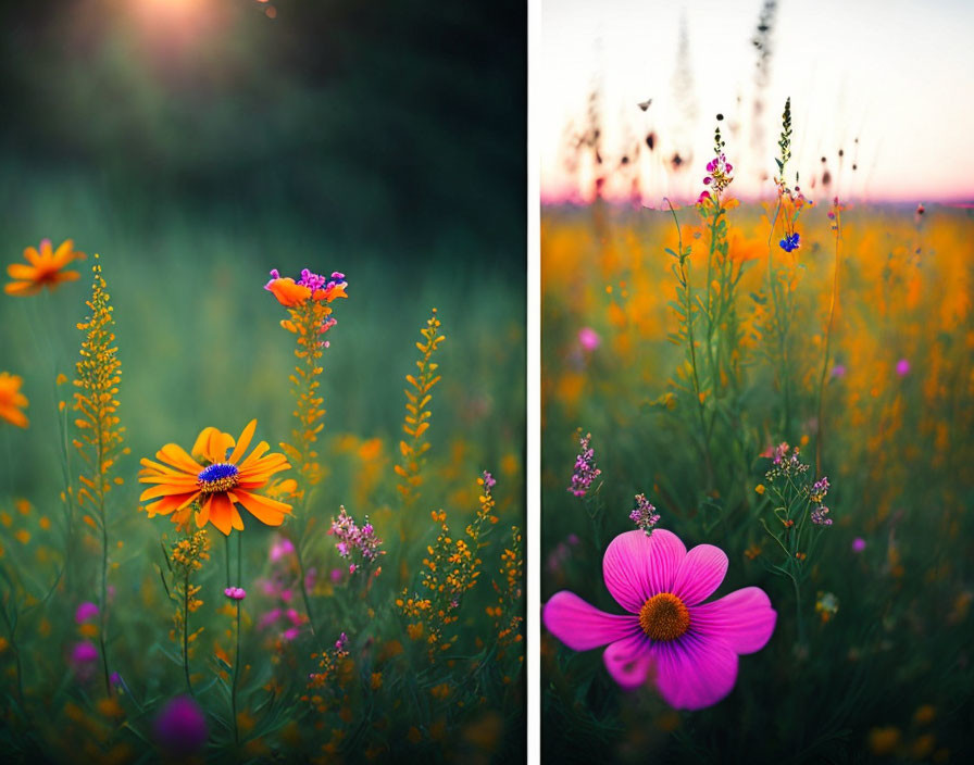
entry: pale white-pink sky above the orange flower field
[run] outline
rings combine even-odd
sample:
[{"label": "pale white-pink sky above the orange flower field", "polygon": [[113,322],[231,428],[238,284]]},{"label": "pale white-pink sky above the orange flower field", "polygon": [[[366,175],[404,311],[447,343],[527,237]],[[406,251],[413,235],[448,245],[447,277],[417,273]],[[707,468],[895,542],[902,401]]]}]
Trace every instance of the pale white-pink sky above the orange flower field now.
[{"label": "pale white-pink sky above the orange flower field", "polygon": [[[810,189],[824,155],[833,176],[829,196],[974,200],[974,2],[779,2],[758,150],[752,148],[758,55],[751,38],[762,5],[761,0],[542,0],[536,95],[542,197],[563,197],[578,186],[563,162],[566,126],[584,127],[589,92],[600,81],[607,166],[619,165],[624,145],[642,141],[650,131],[657,136],[653,152],[642,145],[638,165],[647,203],[664,195],[696,198],[703,188],[717,112],[725,115],[725,151],[737,175],[733,190],[742,197],[771,193],[772,181],[760,176],[775,172],[789,96],[788,180],[794,184],[799,171],[802,190],[812,198],[824,192],[821,184]],[[674,88],[682,17],[689,89]],[[644,113],[637,103],[648,98],[652,104]],[[696,103],[692,122],[686,116],[688,101]],[[729,129],[735,124],[736,133]],[[674,174],[669,160],[676,152],[691,159],[685,172]],[[583,161],[583,181],[591,177],[590,164]],[[622,180],[609,186],[617,195],[628,188]]]}]

